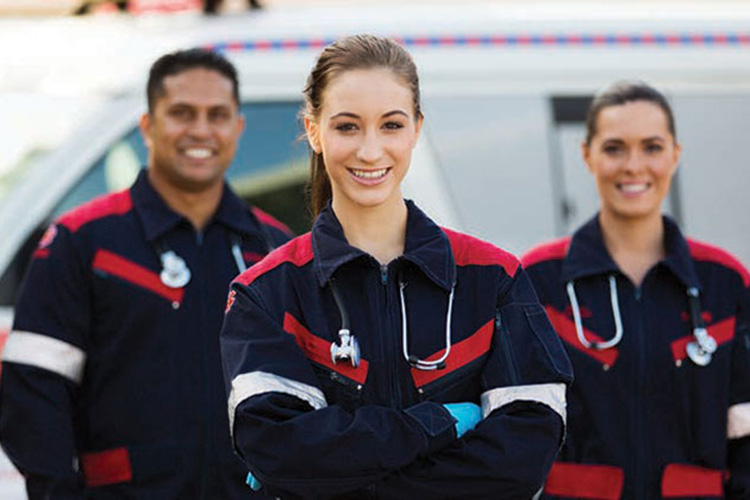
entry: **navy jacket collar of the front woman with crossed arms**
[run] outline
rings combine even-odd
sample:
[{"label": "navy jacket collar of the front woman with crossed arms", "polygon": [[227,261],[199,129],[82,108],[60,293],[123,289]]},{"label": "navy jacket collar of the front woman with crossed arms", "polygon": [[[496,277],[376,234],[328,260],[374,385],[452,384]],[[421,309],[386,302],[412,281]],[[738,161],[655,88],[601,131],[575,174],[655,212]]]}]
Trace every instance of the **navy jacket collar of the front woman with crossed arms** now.
[{"label": "navy jacket collar of the front woman with crossed arms", "polygon": [[[406,200],[406,245],[398,260],[413,263],[436,285],[449,291],[455,281],[448,236],[410,200]],[[346,241],[344,230],[329,203],[318,215],[312,229],[314,266],[318,284],[322,287],[342,265],[358,258],[374,259]]]}]

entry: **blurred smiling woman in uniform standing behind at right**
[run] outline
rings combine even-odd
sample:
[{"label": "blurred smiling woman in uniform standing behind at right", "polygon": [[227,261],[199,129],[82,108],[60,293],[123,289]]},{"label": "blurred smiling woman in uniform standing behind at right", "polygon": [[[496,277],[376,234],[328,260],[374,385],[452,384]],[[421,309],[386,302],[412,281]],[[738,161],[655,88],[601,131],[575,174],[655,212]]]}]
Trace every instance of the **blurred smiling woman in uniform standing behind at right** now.
[{"label": "blurred smiling woman in uniform standing behind at right", "polygon": [[657,90],[593,100],[600,211],[523,259],[576,373],[545,486],[564,498],[750,497],[750,274],[661,206],[680,159]]}]

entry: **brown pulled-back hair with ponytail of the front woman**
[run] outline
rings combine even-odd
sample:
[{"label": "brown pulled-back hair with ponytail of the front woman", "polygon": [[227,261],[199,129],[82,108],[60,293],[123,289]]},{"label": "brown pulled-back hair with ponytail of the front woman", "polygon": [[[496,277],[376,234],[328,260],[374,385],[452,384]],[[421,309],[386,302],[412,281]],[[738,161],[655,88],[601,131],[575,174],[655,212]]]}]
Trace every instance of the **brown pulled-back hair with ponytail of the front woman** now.
[{"label": "brown pulled-back hair with ponytail of the front woman", "polygon": [[[302,113],[319,117],[323,92],[336,76],[351,70],[374,68],[389,69],[401,78],[411,89],[415,115],[422,116],[419,77],[414,61],[406,49],[394,40],[374,35],[349,36],[323,49],[307,77]],[[323,155],[312,150],[308,196],[314,217],[323,210],[332,196],[331,181],[326,173]]]}]

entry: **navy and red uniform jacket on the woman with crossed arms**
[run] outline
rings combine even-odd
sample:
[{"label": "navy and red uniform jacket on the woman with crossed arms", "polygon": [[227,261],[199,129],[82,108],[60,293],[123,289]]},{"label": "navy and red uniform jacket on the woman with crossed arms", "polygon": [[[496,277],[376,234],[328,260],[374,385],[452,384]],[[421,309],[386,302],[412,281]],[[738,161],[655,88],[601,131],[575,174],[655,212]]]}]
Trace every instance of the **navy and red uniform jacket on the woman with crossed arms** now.
[{"label": "navy and red uniform jacket on the woman with crossed arms", "polygon": [[[510,254],[442,230],[411,202],[404,254],[387,266],[351,247],[332,209],[230,291],[221,344],[234,445],[282,498],[530,498],[561,443],[570,364]],[[335,280],[360,343],[333,364],[341,326]],[[442,370],[408,351],[452,346]],[[456,439],[439,403],[470,401],[484,419]]]}]

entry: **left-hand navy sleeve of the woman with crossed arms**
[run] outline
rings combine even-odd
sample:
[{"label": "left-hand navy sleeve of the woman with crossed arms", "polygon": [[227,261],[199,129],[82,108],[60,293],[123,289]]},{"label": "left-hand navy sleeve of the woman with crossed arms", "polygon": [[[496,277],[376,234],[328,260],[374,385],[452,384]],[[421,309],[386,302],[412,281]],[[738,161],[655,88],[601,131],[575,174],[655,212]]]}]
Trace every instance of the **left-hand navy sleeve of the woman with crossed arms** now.
[{"label": "left-hand navy sleeve of the woman with crossed arms", "polygon": [[[282,498],[350,493],[456,439],[442,405],[404,411],[328,406],[294,336],[235,283],[221,349],[235,450],[263,485]],[[329,354],[328,354],[329,355]]]}]

